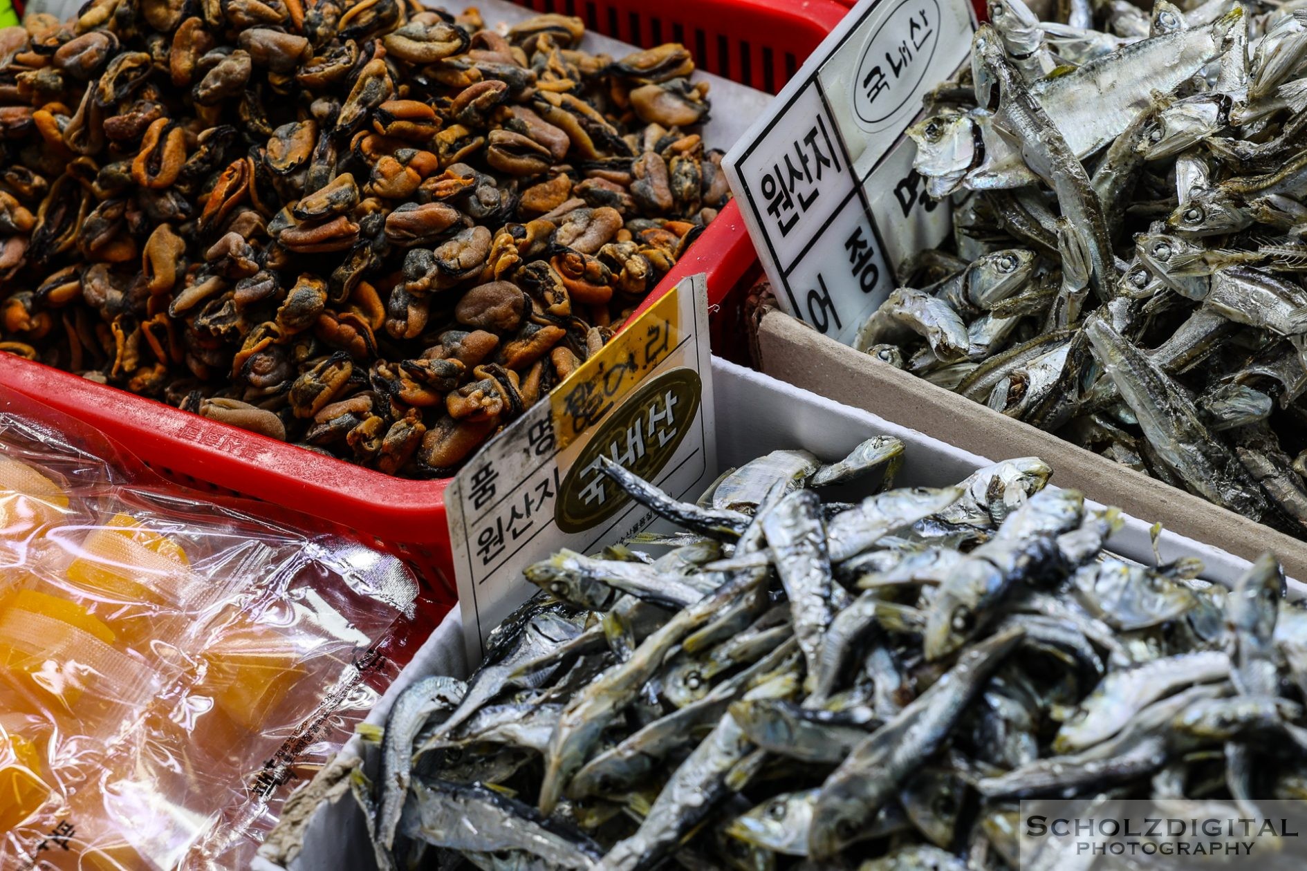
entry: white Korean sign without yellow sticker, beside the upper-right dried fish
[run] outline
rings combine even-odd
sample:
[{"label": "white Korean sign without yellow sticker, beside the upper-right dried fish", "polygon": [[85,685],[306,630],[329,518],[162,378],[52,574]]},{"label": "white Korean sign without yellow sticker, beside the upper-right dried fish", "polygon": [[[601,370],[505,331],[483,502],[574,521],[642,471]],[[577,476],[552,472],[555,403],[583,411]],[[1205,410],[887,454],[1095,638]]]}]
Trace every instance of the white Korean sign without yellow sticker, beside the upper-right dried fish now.
[{"label": "white Korean sign without yellow sticker, beside the upper-right dried fish", "polygon": [[966,0],[861,0],[723,165],[780,307],[852,343],[948,235],[903,132],[971,50]]}]

